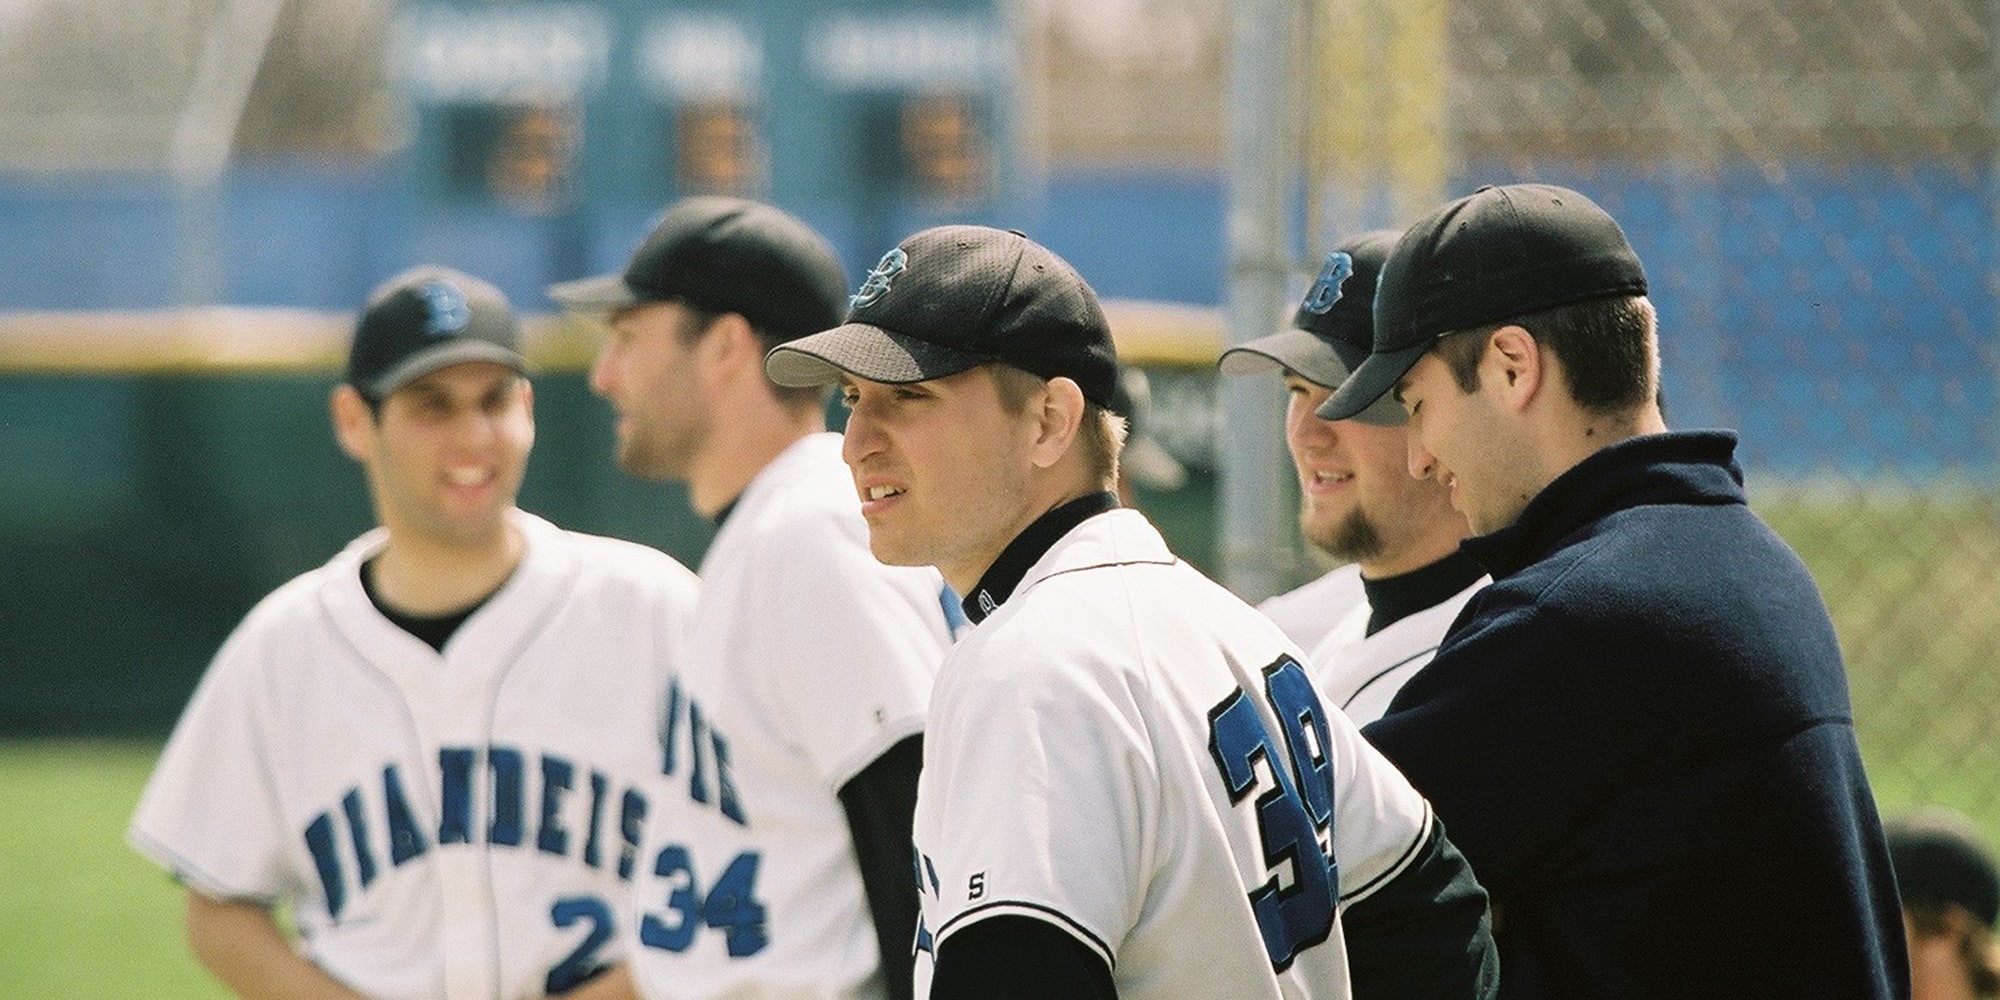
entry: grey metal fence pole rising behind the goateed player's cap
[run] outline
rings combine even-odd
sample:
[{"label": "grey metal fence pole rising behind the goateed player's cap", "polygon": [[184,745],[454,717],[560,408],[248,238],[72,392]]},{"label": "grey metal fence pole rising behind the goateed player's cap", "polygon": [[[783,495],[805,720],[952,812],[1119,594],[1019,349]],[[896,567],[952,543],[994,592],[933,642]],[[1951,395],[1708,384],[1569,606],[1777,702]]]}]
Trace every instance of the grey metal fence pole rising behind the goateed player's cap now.
[{"label": "grey metal fence pole rising behind the goateed player's cap", "polygon": [[[1232,6],[1226,152],[1224,322],[1232,344],[1278,330],[1290,276],[1286,204],[1298,176],[1294,66],[1298,0]],[[1270,380],[1222,378],[1222,582],[1248,600],[1292,582],[1298,546],[1282,490],[1284,398]]]}]

